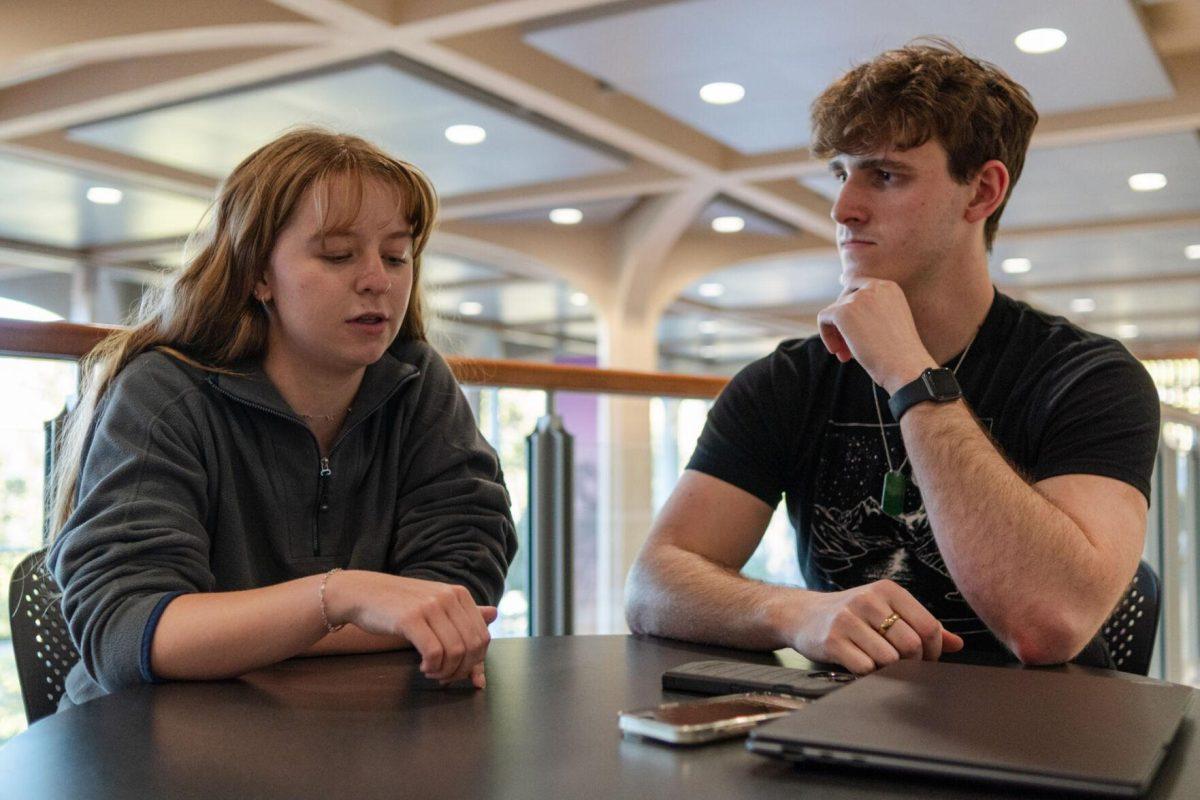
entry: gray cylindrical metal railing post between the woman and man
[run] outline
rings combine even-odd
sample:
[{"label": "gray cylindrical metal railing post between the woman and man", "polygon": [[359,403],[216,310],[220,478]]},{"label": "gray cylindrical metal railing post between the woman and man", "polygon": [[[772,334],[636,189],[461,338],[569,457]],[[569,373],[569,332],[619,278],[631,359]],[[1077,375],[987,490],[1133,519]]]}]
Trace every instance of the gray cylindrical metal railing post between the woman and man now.
[{"label": "gray cylindrical metal railing post between the woman and man", "polygon": [[546,416],[526,438],[530,636],[569,636],[574,631],[574,437],[554,414],[554,395],[547,392]]}]

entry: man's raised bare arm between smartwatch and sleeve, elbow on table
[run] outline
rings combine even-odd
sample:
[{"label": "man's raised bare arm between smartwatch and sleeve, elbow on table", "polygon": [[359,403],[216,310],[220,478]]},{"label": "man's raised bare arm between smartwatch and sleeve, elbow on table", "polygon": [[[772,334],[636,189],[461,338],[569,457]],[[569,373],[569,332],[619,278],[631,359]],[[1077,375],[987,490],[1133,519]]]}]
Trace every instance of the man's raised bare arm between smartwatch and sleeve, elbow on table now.
[{"label": "man's raised bare arm between smartwatch and sleeve, elbow on table", "polygon": [[1078,655],[1136,569],[1142,494],[1096,475],[1030,486],[961,401],[917,405],[901,431],[938,549],[971,607],[1024,662]]}]

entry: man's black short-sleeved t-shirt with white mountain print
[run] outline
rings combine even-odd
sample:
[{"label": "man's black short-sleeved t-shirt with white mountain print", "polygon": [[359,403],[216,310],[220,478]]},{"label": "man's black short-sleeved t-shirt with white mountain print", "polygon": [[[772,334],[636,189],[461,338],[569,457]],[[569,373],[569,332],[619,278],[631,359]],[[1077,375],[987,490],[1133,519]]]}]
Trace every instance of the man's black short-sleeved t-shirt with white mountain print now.
[{"label": "man's black short-sleeved t-shirt with white mountain print", "polygon": [[[1121,343],[997,291],[958,379],[1026,480],[1103,475],[1136,487],[1148,501],[1158,395]],[[954,585],[911,480],[900,518],[883,513],[883,438],[896,468],[905,447],[878,389],[881,437],[872,390],[856,361],[839,362],[818,337],[782,342],[721,392],[688,469],[773,507],[785,497],[810,589],[889,578],[966,639],[964,657],[1012,660]],[[911,465],[904,473],[911,479]],[[1106,654],[1085,661],[1104,663]]]}]

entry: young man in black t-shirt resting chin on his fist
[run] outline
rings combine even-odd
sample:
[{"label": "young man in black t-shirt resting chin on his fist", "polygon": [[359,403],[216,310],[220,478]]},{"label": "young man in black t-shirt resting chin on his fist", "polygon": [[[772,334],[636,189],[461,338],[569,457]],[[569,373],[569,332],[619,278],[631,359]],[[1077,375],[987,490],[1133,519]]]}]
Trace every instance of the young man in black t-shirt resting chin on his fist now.
[{"label": "young man in black t-shirt resting chin on his fist", "polygon": [[[630,573],[630,628],[860,674],[960,650],[1110,666],[1096,633],[1141,554],[1158,399],[1120,343],[991,285],[1028,94],[913,44],[812,118],[845,289],[820,337],[716,401]],[[739,575],[781,495],[806,590]]]}]

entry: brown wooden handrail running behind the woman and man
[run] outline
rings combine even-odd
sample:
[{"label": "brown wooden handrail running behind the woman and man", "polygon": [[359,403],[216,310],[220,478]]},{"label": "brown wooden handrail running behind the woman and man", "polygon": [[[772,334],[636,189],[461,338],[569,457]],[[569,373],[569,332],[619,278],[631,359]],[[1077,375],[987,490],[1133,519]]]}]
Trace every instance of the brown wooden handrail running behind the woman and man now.
[{"label": "brown wooden handrail running behind the woman and man", "polygon": [[[113,325],[0,319],[0,355],[80,359],[118,330],[120,327]],[[461,383],[476,386],[707,399],[720,395],[728,383],[726,378],[712,375],[599,369],[503,359],[449,356],[446,361]]]}]

